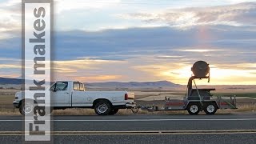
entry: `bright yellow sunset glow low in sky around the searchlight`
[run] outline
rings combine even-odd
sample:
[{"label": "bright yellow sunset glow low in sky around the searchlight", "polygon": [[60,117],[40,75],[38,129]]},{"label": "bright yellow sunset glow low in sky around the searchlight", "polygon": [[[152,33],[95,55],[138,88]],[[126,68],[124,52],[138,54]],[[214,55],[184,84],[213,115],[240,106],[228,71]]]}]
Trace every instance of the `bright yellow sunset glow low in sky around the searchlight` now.
[{"label": "bright yellow sunset glow low in sky around the searchlight", "polygon": [[[162,76],[166,79],[182,85],[186,85],[192,75],[191,66],[162,72]],[[199,85],[254,85],[256,70],[222,69],[218,66],[212,66],[210,68],[210,79],[210,83],[207,83],[207,81],[197,82]]]}]

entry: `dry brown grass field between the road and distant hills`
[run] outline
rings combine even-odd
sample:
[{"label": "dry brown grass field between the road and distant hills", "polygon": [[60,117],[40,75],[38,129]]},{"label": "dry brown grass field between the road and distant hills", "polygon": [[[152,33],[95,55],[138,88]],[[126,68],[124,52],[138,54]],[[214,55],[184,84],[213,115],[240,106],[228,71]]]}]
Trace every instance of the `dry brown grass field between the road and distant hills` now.
[{"label": "dry brown grass field between the road and distant hills", "polygon": [[[18,109],[14,109],[12,102],[14,101],[14,94],[19,90],[7,90],[0,89],[0,114],[1,115],[19,115]],[[138,105],[162,105],[164,102],[164,97],[178,97],[182,98],[185,96],[186,92],[182,90],[130,90],[135,93],[135,102]],[[236,90],[222,90],[214,95],[220,96],[230,96],[236,95],[238,98],[237,105],[238,110],[218,110],[218,114],[230,114],[235,112],[255,112],[256,111],[256,90],[250,90],[246,93],[244,91]],[[149,101],[142,101],[149,100]],[[156,100],[153,101],[152,99]],[[162,101],[158,101],[158,99]],[[119,110],[118,114],[126,115],[133,114],[131,110]],[[187,114],[186,111],[162,111],[162,112],[147,112],[139,110],[138,114]],[[66,109],[66,110],[54,110],[54,115],[94,115],[94,110],[92,109]]]}]

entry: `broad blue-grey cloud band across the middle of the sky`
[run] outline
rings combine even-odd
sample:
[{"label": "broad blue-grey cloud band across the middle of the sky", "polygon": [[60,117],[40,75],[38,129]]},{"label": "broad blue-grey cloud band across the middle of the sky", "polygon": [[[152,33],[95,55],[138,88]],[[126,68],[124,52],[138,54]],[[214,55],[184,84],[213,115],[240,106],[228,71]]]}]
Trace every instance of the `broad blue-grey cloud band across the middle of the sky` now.
[{"label": "broad blue-grey cloud band across the middle of the sky", "polygon": [[[254,28],[244,26],[198,26],[190,30],[170,27],[97,32],[75,30],[56,32],[52,48],[54,61],[157,58],[166,62],[185,58],[184,61],[221,58],[223,62],[240,63],[256,62],[254,38]],[[0,58],[21,58],[20,47],[20,38],[0,40]]]}]

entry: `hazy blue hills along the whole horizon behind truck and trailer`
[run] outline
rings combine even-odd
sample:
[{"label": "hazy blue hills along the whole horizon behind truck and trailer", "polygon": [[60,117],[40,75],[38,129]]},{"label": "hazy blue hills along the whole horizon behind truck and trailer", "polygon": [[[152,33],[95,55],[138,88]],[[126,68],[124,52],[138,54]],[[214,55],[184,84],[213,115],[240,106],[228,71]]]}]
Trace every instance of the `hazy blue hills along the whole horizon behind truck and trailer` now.
[{"label": "hazy blue hills along the whole horizon behind truck and trailer", "polygon": [[[1,78],[0,77],[0,87],[10,88],[18,87],[20,88],[22,84],[22,79],[18,78]],[[5,86],[3,86],[5,85]],[[14,86],[15,85],[15,86]],[[158,81],[158,82],[91,82],[85,83],[86,88],[92,88],[96,90],[101,89],[182,89],[185,90],[186,86],[178,85],[169,81]],[[217,90],[256,90],[256,85],[209,85],[209,86],[199,86],[199,88],[216,88]]]}]

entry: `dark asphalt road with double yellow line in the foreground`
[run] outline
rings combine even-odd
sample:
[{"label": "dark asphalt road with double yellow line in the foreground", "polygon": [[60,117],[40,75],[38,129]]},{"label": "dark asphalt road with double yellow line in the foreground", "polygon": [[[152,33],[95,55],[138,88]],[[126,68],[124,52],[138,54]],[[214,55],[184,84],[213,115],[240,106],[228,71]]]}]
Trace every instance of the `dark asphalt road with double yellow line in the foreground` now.
[{"label": "dark asphalt road with double yellow line in the foreground", "polygon": [[[0,117],[0,142],[21,143],[22,117]],[[54,143],[256,143],[256,114],[54,116]]]}]

